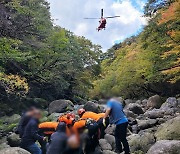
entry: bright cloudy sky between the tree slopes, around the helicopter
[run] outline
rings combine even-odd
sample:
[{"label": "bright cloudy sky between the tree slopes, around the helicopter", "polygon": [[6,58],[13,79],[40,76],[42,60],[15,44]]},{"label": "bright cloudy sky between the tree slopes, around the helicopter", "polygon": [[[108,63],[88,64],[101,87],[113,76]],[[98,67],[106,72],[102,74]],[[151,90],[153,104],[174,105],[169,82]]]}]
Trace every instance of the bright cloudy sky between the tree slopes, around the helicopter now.
[{"label": "bright cloudy sky between the tree slopes, around the helicopter", "polygon": [[[146,0],[48,0],[54,23],[85,36],[93,43],[103,47],[103,51],[115,42],[137,34],[146,25],[143,7]],[[97,32],[98,20],[85,20],[85,17],[100,17],[101,8],[104,16],[120,15],[109,19],[106,30]]]}]

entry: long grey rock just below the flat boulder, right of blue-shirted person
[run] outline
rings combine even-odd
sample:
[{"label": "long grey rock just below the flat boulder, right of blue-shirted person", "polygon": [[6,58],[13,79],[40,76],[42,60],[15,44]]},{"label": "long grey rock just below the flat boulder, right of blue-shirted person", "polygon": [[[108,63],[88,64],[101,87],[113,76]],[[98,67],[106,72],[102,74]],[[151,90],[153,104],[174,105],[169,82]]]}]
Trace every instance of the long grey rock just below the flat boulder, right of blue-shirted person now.
[{"label": "long grey rock just below the flat boulder, right of blue-shirted person", "polygon": [[156,119],[148,119],[148,120],[139,120],[138,127],[140,130],[154,127],[157,124]]}]

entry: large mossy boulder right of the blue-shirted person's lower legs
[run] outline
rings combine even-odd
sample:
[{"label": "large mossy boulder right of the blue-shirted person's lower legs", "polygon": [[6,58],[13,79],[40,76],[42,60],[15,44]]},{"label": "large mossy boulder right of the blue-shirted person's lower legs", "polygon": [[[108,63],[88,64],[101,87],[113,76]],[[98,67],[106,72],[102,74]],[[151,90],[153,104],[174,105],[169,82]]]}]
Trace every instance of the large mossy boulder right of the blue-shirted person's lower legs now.
[{"label": "large mossy boulder right of the blue-shirted person's lower legs", "polygon": [[156,140],[152,133],[146,132],[128,136],[128,142],[129,146],[131,147],[131,152],[140,150],[146,153],[149,148],[156,142]]}]

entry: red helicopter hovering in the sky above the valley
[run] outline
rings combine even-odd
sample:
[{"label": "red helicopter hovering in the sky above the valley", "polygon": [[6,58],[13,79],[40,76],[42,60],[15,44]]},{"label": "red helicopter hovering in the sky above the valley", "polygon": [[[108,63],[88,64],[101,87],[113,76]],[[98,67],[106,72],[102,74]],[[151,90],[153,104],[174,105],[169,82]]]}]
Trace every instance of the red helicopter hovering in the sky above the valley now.
[{"label": "red helicopter hovering in the sky above the valley", "polygon": [[97,31],[99,32],[100,30],[105,30],[106,29],[106,24],[107,24],[107,19],[108,18],[118,18],[120,16],[110,16],[110,17],[104,17],[104,10],[101,9],[101,18],[84,18],[84,19],[100,19],[99,20],[99,26],[97,28]]}]

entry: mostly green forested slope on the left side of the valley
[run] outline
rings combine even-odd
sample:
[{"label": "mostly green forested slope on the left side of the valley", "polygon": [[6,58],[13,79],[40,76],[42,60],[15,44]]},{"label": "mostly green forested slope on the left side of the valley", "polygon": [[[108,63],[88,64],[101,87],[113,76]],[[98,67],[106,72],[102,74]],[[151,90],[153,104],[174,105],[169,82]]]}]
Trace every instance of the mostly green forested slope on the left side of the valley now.
[{"label": "mostly green forested slope on the left side of the valley", "polygon": [[0,1],[0,106],[80,102],[99,74],[101,47],[53,25],[46,0]]}]

